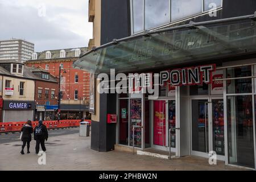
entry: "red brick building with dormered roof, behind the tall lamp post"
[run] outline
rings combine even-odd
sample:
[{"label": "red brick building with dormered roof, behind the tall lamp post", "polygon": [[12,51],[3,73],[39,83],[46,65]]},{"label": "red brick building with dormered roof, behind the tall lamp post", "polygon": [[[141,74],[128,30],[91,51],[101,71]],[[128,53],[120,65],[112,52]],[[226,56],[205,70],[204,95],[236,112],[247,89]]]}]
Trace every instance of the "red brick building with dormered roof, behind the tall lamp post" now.
[{"label": "red brick building with dormered roof, behind the tall lamp post", "polygon": [[[90,118],[90,74],[72,66],[85,52],[86,47],[35,52],[32,59],[26,61],[28,67],[41,67],[57,78],[61,75],[61,119]],[[55,94],[58,97],[58,93]]]}]

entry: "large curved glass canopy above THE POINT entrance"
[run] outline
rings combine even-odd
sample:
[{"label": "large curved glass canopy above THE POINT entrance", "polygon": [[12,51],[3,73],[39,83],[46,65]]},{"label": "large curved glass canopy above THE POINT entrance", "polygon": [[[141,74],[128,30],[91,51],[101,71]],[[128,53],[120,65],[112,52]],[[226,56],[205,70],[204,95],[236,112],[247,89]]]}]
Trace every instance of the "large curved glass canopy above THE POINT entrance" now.
[{"label": "large curved glass canopy above THE POINT entrance", "polygon": [[256,52],[256,14],[191,22],[113,40],[74,61],[89,72],[139,72]]}]

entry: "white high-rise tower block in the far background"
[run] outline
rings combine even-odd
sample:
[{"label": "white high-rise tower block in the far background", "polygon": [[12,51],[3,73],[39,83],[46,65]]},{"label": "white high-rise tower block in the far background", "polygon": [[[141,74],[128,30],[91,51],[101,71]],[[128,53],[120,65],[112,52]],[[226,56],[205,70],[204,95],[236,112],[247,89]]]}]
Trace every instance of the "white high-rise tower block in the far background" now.
[{"label": "white high-rise tower block in the far background", "polygon": [[20,63],[30,60],[34,44],[22,39],[0,40],[0,61],[18,60]]}]

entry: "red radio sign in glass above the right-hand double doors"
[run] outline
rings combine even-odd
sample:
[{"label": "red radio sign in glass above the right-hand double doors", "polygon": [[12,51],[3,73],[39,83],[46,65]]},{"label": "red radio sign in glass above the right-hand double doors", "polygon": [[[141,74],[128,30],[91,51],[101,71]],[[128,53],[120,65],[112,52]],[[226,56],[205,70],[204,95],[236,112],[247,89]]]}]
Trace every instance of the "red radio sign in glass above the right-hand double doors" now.
[{"label": "red radio sign in glass above the right-hand double doors", "polygon": [[212,73],[212,84],[210,86],[210,94],[213,95],[222,95],[223,94],[223,71],[217,70]]}]

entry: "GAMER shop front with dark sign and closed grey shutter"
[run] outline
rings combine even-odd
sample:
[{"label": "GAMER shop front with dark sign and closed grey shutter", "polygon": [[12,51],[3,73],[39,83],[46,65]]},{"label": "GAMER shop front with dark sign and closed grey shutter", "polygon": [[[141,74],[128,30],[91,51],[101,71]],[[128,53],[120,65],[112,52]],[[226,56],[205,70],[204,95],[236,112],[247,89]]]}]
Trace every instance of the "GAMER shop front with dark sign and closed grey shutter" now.
[{"label": "GAMER shop front with dark sign and closed grey shutter", "polygon": [[17,122],[34,119],[34,101],[3,101],[3,122]]}]

